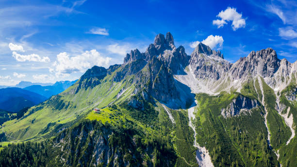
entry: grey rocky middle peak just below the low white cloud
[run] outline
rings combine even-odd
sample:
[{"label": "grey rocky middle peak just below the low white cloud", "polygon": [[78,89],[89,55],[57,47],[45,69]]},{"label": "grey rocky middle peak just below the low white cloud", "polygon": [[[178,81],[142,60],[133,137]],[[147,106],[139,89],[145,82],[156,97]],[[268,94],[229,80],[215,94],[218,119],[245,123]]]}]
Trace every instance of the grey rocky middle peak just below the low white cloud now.
[{"label": "grey rocky middle peak just below the low white cloud", "polygon": [[191,54],[189,64],[198,79],[219,80],[231,67],[231,63],[223,59],[220,51],[213,51],[202,43],[199,43]]}]

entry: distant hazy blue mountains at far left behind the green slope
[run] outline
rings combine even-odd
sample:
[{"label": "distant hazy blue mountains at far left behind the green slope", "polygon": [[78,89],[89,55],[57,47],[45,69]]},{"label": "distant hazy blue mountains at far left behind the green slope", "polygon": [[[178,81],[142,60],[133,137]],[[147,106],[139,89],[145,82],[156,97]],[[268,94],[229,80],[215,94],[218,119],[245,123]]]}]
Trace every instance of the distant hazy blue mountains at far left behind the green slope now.
[{"label": "distant hazy blue mountains at far left behind the green slope", "polygon": [[47,100],[52,95],[63,92],[76,81],[60,81],[56,83],[21,81],[16,84],[16,87],[0,89],[0,109],[16,113],[25,107],[31,107]]}]

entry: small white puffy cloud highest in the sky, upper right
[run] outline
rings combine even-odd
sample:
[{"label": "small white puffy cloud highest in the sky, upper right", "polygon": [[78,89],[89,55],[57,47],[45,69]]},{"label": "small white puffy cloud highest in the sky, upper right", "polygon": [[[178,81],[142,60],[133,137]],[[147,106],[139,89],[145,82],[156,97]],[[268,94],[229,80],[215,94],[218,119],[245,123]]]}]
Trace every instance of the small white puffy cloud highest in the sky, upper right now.
[{"label": "small white puffy cloud highest in the sky, upper right", "polygon": [[222,10],[216,17],[221,18],[213,20],[213,25],[216,25],[217,28],[221,28],[224,24],[227,24],[226,21],[232,21],[231,26],[233,31],[246,27],[246,19],[242,18],[242,14],[236,12],[236,8],[228,7],[226,10]]}]

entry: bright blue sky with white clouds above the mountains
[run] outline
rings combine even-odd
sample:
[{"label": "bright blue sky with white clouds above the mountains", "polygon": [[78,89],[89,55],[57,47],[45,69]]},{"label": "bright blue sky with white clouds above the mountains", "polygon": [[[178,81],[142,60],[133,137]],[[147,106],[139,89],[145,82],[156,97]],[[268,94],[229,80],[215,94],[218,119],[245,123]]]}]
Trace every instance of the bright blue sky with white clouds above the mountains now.
[{"label": "bright blue sky with white clouds above the mountains", "polygon": [[0,85],[75,80],[167,32],[187,54],[203,42],[235,62],[270,47],[293,63],[296,16],[294,0],[1,0]]}]

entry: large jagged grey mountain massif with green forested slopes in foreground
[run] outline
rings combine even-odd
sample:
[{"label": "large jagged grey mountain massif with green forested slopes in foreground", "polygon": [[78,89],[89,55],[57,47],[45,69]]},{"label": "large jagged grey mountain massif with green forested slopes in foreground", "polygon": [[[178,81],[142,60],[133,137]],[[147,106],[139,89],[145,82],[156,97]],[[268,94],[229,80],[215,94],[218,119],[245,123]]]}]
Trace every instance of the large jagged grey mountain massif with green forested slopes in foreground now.
[{"label": "large jagged grey mountain massif with green forested slopes in foreground", "polygon": [[94,66],[4,122],[3,142],[33,143],[4,146],[0,164],[296,167],[296,76],[297,62],[271,48],[232,64],[202,43],[187,55],[158,34],[145,52]]}]

